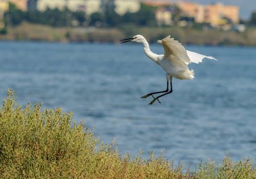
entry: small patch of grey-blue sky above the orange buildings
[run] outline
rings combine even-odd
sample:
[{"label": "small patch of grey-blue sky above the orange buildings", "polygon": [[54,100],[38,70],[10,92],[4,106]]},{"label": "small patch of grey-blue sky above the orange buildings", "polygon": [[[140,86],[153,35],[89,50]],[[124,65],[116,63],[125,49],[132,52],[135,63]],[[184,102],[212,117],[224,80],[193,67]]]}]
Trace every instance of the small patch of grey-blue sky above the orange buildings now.
[{"label": "small patch of grey-blue sky above the orange buildings", "polygon": [[256,11],[256,0],[183,0],[199,4],[223,3],[224,5],[236,5],[240,8],[240,17],[243,20],[250,18],[251,13]]}]

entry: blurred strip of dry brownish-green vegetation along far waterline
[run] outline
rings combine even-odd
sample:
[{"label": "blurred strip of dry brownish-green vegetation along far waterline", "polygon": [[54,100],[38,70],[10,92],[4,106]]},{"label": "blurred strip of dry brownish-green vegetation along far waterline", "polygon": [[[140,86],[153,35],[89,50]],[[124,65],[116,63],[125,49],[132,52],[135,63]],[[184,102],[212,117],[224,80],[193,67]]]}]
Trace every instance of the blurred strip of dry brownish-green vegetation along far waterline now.
[{"label": "blurred strip of dry brownish-green vegetation along far waterline", "polygon": [[256,46],[256,28],[243,33],[221,30],[197,30],[181,27],[135,27],[120,28],[54,28],[47,25],[22,23],[0,34],[0,40],[32,40],[60,42],[118,42],[125,37],[142,34],[150,42],[172,35],[184,44]]}]

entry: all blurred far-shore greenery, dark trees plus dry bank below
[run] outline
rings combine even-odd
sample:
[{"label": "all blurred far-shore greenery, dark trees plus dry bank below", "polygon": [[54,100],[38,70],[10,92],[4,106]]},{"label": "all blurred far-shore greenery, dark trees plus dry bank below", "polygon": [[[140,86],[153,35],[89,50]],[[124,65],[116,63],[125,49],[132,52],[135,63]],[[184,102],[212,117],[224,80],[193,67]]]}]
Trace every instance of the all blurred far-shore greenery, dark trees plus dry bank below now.
[{"label": "all blurred far-shore greenery, dark trees plus dry bank below", "polygon": [[84,12],[72,12],[67,8],[24,12],[10,4],[9,11],[4,14],[6,27],[0,29],[0,39],[118,42],[142,34],[148,41],[156,42],[171,34],[185,44],[256,46],[256,12],[249,20],[241,21],[247,26],[245,32],[237,32],[193,21],[186,27],[179,27],[178,21],[186,17],[181,15],[178,7],[169,8],[174,12],[173,26],[157,26],[156,7],[144,4],[138,12],[127,12],[122,16],[111,8],[85,16]]}]

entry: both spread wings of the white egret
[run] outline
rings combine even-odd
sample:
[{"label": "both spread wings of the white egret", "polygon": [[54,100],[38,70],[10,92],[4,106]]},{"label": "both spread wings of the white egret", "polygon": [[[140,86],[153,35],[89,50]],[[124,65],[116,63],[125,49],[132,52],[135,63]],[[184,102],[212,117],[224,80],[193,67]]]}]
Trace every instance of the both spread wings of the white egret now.
[{"label": "both spread wings of the white egret", "polygon": [[158,40],[157,42],[162,44],[164,48],[164,57],[167,59],[173,59],[170,58],[170,56],[173,55],[175,59],[179,59],[185,64],[189,64],[191,62],[200,63],[204,58],[217,60],[214,57],[205,56],[196,52],[185,50],[182,44],[178,40],[170,38],[170,35],[163,38],[162,40]]}]

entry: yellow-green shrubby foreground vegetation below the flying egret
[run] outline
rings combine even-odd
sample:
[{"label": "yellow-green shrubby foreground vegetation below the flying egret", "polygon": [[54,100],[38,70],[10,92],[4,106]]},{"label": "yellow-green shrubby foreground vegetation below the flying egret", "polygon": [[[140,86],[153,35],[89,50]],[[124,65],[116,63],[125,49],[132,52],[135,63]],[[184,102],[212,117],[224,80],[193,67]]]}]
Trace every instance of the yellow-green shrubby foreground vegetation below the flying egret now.
[{"label": "yellow-green shrubby foreground vegetation below the flying egret", "polygon": [[114,143],[99,144],[91,130],[73,123],[72,113],[19,106],[12,90],[0,107],[1,178],[256,178],[252,161],[229,157],[183,171],[154,153],[147,160],[121,156]]}]

